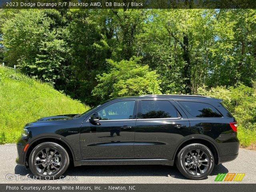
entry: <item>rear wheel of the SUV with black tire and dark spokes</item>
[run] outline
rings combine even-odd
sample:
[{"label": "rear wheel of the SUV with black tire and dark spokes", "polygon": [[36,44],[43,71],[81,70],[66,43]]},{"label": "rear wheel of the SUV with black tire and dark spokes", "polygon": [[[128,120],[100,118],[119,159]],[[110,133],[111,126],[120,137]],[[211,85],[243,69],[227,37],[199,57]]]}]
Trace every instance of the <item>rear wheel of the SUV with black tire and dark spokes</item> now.
[{"label": "rear wheel of the SUV with black tire and dark spokes", "polygon": [[189,144],[178,153],[176,166],[186,178],[201,180],[207,178],[212,172],[214,156],[210,149],[203,144]]}]

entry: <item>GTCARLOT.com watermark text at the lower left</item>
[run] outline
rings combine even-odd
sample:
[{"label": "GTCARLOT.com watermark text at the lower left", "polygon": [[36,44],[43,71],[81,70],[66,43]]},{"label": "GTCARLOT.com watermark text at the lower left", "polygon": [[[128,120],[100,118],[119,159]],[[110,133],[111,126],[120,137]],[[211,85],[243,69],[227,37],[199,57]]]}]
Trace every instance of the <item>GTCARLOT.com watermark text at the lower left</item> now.
[{"label": "GTCARLOT.com watermark text at the lower left", "polygon": [[26,180],[66,180],[66,181],[77,181],[78,177],[77,176],[60,176],[59,178],[54,178],[54,176],[52,176],[52,178],[50,178],[50,176],[46,176],[44,179],[41,178],[40,176],[30,176],[29,174],[27,175],[20,175],[20,174],[6,174],[5,176],[6,180],[12,181],[12,180],[22,180],[22,181],[26,181]]}]

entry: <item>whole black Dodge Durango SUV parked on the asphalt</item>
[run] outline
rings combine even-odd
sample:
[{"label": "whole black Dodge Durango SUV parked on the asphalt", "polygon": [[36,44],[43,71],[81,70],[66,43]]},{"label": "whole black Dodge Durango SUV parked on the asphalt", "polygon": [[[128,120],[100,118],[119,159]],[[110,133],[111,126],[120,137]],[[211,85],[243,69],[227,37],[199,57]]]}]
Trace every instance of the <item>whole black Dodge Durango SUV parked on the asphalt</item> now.
[{"label": "whole black Dodge Durango SUV parked on the asphalt", "polygon": [[28,123],[17,143],[19,165],[58,178],[69,164],[176,163],[189,179],[238,156],[237,123],[220,99],[146,95],[109,100],[83,114]]}]

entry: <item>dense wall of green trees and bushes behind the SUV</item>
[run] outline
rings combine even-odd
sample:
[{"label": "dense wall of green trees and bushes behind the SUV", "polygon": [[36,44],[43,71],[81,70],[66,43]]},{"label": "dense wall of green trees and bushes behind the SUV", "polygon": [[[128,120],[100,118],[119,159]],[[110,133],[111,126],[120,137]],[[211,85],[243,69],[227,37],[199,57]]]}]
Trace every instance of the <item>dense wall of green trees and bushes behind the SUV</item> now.
[{"label": "dense wall of green trees and bushes behind the SUV", "polygon": [[0,44],[8,66],[90,106],[201,93],[255,138],[256,10],[0,10]]}]

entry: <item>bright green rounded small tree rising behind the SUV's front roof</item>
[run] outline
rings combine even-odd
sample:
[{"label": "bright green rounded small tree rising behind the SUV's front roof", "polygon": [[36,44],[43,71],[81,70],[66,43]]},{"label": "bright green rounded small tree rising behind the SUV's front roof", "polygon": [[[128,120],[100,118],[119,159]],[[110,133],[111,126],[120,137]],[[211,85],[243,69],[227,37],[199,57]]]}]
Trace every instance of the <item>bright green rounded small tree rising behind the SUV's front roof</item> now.
[{"label": "bright green rounded small tree rising behind the SUV's front roof", "polygon": [[101,100],[122,96],[136,96],[142,94],[161,94],[159,75],[150,71],[148,66],[139,66],[138,59],[114,62],[108,60],[112,66],[110,72],[97,76],[98,85],[93,95]]}]

